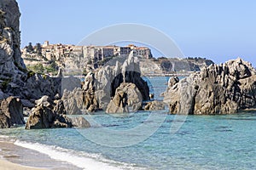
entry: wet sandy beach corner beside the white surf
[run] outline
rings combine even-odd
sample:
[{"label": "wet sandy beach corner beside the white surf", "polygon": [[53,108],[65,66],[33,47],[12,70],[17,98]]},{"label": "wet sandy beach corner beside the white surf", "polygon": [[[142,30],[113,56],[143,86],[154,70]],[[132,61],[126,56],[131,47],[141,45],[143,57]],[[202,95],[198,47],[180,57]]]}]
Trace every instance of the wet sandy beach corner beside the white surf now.
[{"label": "wet sandy beach corner beside the white surf", "polygon": [[68,170],[81,168],[65,161],[57,161],[49,156],[16,145],[13,141],[0,140],[1,170]]}]

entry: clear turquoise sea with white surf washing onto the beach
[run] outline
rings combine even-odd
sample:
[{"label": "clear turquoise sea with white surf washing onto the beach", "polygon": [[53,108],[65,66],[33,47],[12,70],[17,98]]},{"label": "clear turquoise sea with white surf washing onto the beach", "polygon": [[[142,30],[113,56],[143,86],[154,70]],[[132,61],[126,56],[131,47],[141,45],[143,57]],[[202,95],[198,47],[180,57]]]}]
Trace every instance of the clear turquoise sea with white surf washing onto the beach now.
[{"label": "clear turquoise sea with white surf washing onto the beach", "polygon": [[[168,77],[145,80],[155,99],[162,99]],[[255,111],[223,116],[167,113],[167,107],[115,115],[101,111],[82,115],[90,128],[1,129],[0,141],[10,142],[15,150],[9,153],[9,146],[0,145],[0,155],[47,169],[256,169]]]}]

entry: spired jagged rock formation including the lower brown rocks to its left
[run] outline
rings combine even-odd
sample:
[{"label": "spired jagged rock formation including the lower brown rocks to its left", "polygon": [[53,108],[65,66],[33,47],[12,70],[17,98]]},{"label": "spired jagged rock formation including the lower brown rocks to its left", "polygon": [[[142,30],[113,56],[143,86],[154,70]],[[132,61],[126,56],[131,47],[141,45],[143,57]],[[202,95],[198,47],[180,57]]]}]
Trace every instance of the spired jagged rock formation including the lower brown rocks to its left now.
[{"label": "spired jagged rock formation including the lower brown rocks to its left", "polygon": [[[75,108],[75,110],[79,108],[89,112],[107,110],[110,100],[114,98],[116,89],[119,88],[122,82],[135,84],[142,95],[142,99],[149,99],[148,84],[141,77],[137,57],[134,57],[131,52],[123,65],[116,61],[115,65],[106,65],[95,72],[89,72],[84,78],[82,89],[77,88],[73,92],[66,91],[62,99],[67,112],[73,113],[68,108]],[[75,103],[77,103],[77,107]]]}]

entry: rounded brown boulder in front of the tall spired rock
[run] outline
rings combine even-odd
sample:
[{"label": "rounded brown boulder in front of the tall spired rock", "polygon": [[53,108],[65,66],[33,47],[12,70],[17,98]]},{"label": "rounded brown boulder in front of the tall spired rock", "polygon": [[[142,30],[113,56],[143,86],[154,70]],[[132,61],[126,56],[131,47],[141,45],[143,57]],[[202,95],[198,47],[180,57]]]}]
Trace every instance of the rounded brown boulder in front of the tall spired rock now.
[{"label": "rounded brown boulder in front of the tall spired rock", "polygon": [[131,82],[123,82],[116,88],[113,99],[108,104],[107,113],[124,113],[141,110],[143,96],[137,86]]}]

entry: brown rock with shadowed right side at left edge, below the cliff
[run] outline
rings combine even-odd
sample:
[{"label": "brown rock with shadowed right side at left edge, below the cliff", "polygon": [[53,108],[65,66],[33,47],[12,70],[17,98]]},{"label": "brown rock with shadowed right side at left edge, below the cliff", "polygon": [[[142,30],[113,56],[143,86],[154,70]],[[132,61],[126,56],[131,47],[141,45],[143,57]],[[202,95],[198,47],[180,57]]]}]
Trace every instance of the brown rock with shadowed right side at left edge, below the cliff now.
[{"label": "brown rock with shadowed right side at left edge, below the cliff", "polygon": [[8,128],[25,124],[23,106],[20,99],[13,96],[3,99],[0,110],[0,127]]}]

